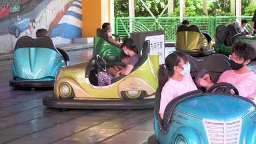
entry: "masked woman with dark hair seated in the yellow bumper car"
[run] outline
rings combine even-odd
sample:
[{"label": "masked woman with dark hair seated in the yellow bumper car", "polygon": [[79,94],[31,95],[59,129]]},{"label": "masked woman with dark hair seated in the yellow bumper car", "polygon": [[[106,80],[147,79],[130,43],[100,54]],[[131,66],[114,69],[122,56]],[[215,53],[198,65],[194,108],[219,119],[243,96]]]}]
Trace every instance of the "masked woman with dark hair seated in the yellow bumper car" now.
[{"label": "masked woman with dark hair seated in the yellow bumper car", "polygon": [[[135,67],[135,65],[139,62],[139,57],[138,57],[138,50],[137,47],[135,46],[134,42],[132,39],[125,39],[123,41],[123,50],[126,55],[129,55],[129,61],[127,61],[127,58],[124,57],[124,62],[126,63],[126,67],[115,67],[115,68],[110,68],[108,69],[108,73],[101,71],[98,73],[98,86],[107,86],[111,84],[111,80],[114,77],[119,77],[120,75],[129,75]],[[115,70],[115,71],[114,71]]]}]

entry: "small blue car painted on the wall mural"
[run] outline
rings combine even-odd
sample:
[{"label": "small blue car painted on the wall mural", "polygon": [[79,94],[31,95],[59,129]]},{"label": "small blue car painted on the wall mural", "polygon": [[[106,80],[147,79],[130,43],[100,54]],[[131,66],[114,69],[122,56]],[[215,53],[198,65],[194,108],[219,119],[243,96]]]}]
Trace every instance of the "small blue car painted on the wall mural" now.
[{"label": "small blue car painted on the wall mural", "polygon": [[30,18],[16,20],[12,25],[9,26],[9,34],[14,35],[15,38],[19,38],[20,33],[24,32],[28,28],[28,26],[30,25],[30,22],[31,22]]}]

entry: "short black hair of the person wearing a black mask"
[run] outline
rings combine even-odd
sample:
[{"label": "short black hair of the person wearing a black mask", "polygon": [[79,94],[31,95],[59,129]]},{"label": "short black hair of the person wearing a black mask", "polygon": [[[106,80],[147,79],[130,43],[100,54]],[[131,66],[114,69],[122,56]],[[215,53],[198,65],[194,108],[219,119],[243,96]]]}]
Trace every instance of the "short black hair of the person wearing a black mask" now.
[{"label": "short black hair of the person wearing a black mask", "polygon": [[242,41],[238,41],[232,46],[232,53],[239,58],[244,58],[245,61],[252,60],[256,55],[254,47]]}]

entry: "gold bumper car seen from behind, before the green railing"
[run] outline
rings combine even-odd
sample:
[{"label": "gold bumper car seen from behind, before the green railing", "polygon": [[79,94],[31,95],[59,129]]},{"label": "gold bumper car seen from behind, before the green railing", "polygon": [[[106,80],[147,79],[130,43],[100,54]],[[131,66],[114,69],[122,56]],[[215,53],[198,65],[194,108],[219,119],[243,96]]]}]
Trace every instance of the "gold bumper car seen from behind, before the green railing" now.
[{"label": "gold bumper car seen from behind, before the green railing", "polygon": [[210,55],[212,48],[212,38],[208,33],[201,32],[196,25],[180,25],[176,33],[175,48],[191,56]]}]

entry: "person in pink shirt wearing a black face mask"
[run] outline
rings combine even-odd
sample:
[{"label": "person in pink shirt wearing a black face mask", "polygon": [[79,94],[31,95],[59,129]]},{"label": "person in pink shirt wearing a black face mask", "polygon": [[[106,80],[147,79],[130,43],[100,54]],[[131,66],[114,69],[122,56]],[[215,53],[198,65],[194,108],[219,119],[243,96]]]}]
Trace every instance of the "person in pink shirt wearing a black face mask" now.
[{"label": "person in pink shirt wearing a black face mask", "polygon": [[[253,46],[238,42],[232,46],[232,54],[230,55],[230,66],[232,70],[225,71],[220,75],[219,82],[228,82],[234,85],[239,95],[254,100],[256,95],[256,74],[249,70],[247,65],[255,57]],[[208,74],[201,79],[196,80],[200,87],[210,88],[212,83]]]}]

